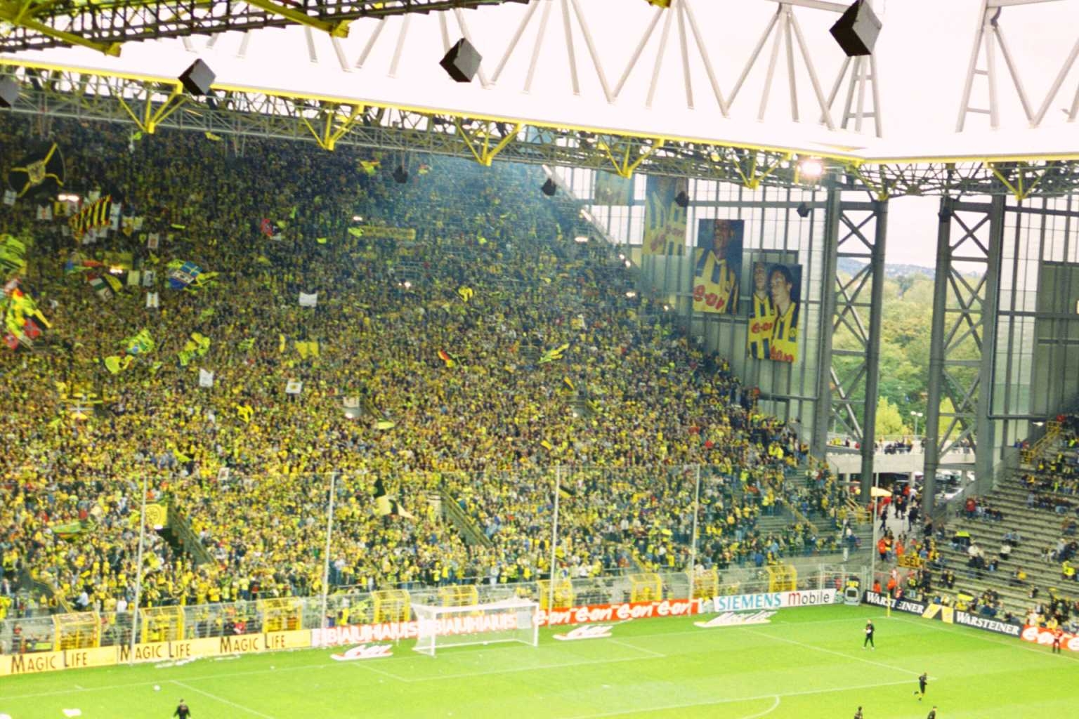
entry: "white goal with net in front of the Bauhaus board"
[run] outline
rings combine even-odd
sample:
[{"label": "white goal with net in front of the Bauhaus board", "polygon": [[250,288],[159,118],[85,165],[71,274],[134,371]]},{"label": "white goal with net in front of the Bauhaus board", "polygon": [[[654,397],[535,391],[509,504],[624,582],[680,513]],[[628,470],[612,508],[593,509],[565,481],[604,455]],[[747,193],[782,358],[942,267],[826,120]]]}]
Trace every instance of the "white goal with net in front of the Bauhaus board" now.
[{"label": "white goal with net in front of the Bauhaus board", "polygon": [[529,599],[504,599],[457,607],[413,604],[418,635],[415,651],[435,655],[437,649],[492,641],[540,642],[540,605]]}]

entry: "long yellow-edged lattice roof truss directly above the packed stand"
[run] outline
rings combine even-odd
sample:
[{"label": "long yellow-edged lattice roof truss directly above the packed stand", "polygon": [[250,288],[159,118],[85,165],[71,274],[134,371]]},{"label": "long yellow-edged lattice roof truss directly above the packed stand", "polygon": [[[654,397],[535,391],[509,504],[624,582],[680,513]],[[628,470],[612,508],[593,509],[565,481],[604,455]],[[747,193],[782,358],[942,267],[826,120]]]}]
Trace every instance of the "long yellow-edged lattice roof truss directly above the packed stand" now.
[{"label": "long yellow-edged lattice roof truss directly above the packed stand", "polygon": [[[22,85],[12,111],[80,121],[127,122],[144,130],[168,127],[222,135],[314,139],[341,144],[426,152],[484,163],[536,165],[694,177],[750,188],[795,186],[796,157],[819,157],[814,183],[870,192],[875,197],[940,194],[1060,195],[1079,190],[1075,156],[857,157],[804,148],[747,147],[700,138],[644,136],[628,130],[552,126],[525,117],[476,116],[445,109],[402,107],[215,84],[215,95],[181,95],[174,79],[0,59],[0,77]],[[180,105],[182,102],[182,105]],[[182,108],[182,112],[176,112]],[[459,130],[459,125],[467,132]]]}]

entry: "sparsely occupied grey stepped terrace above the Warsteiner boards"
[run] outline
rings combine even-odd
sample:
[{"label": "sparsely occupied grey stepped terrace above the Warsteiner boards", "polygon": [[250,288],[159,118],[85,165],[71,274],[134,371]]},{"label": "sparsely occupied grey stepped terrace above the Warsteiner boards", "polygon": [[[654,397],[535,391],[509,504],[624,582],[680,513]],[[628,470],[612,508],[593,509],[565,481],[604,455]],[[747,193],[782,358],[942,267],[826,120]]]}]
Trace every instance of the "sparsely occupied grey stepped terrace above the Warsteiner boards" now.
[{"label": "sparsely occupied grey stepped terrace above the Warsteiner boards", "polygon": [[[1063,447],[1057,448],[1063,451]],[[1016,617],[1025,616],[1037,602],[1048,599],[1049,591],[1063,596],[1079,595],[1079,583],[1062,579],[1061,563],[1042,558],[1044,550],[1055,547],[1061,538],[1062,522],[1065,518],[1074,518],[1075,512],[1063,515],[1048,509],[1027,507],[1028,490],[1021,475],[1033,471],[1033,466],[1021,465],[1019,470],[1008,476],[995,490],[980,498],[980,502],[1003,514],[1001,521],[967,517],[961,507],[955,515],[948,517],[947,539],[938,542],[938,549],[945,565],[955,571],[956,582],[953,590],[945,590],[939,581],[940,572],[934,571],[934,594],[944,593],[954,597],[958,591],[965,591],[976,597],[985,590],[993,589],[999,594],[1003,609]],[[1039,494],[1077,501],[1074,495]],[[969,555],[966,548],[953,547],[950,541],[958,530],[970,533],[971,541],[984,551],[986,563],[992,558],[998,561],[996,571],[985,569],[975,571],[968,566]],[[999,550],[1008,531],[1017,531],[1021,542],[1013,548],[1007,559],[1001,559]],[[1015,570],[1019,568],[1027,575],[1025,582],[1014,580]],[[1039,590],[1036,599],[1029,596],[1032,586],[1037,586]]]}]

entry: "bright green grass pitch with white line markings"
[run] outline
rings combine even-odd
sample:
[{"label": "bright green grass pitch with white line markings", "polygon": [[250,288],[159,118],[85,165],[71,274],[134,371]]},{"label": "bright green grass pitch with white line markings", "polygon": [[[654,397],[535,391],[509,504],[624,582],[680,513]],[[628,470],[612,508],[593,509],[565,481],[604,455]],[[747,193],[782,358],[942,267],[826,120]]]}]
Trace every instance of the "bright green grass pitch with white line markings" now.
[{"label": "bright green grass pitch with white line markings", "polygon": [[[699,628],[671,618],[615,624],[611,638],[498,644],[337,662],[305,650],[182,666],[0,679],[0,715],[63,719],[315,717],[709,717],[714,719],[1056,719],[1079,716],[1079,658],[868,607],[780,610],[769,624]],[[876,651],[863,650],[866,618]],[[924,702],[916,677],[930,676]],[[155,691],[154,686],[161,690]]]}]

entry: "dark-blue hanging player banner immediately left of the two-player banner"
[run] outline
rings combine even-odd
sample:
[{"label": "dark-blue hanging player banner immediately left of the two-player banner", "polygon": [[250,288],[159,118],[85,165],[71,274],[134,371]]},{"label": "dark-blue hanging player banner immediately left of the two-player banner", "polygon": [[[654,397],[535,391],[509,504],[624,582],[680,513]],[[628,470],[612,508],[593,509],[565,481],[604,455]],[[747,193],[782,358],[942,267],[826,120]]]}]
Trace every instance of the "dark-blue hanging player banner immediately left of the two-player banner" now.
[{"label": "dark-blue hanging player banner immediately left of the two-player banner", "polygon": [[743,220],[700,220],[693,251],[694,312],[734,314],[741,278]]}]

